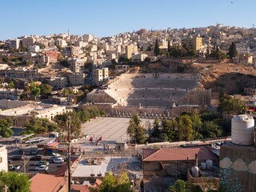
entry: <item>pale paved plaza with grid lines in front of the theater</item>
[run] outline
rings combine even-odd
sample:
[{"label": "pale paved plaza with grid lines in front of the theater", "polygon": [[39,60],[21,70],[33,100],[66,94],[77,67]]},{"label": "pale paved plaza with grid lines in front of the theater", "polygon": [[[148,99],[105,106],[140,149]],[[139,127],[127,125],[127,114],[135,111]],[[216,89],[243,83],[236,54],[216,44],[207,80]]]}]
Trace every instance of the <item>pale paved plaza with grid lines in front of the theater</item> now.
[{"label": "pale paved plaza with grid lines in front of the theater", "polygon": [[[142,118],[141,120],[141,125],[146,128],[149,123],[152,126],[154,122],[153,118]],[[126,142],[126,130],[129,126],[129,121],[130,118],[99,117],[91,120],[90,122],[84,123],[82,125],[82,132],[89,135],[89,138],[94,138],[94,141],[96,138],[102,137],[102,141],[106,141],[108,143],[114,143],[117,141]]]}]

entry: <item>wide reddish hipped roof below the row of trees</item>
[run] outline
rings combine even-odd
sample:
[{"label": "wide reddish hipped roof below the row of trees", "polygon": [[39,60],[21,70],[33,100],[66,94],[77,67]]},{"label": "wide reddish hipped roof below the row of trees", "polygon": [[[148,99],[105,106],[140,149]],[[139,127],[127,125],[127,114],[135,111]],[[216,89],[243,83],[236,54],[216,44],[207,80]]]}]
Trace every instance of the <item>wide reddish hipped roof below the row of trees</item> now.
[{"label": "wide reddish hipped roof below the row of trees", "polygon": [[198,160],[218,159],[205,146],[193,148],[162,148],[144,158],[143,162],[164,162],[164,161],[186,161],[195,160],[195,154],[198,154]]}]

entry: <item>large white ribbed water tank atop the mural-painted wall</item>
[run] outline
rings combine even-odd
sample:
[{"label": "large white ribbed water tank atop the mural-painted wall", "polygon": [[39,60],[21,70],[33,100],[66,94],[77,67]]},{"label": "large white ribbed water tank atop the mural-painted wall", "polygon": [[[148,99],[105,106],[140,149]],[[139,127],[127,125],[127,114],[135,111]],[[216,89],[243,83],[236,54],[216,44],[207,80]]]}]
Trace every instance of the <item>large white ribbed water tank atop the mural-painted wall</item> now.
[{"label": "large white ribbed water tank atop the mural-painted wall", "polygon": [[254,118],[246,114],[239,114],[232,118],[231,142],[241,146],[254,144]]}]

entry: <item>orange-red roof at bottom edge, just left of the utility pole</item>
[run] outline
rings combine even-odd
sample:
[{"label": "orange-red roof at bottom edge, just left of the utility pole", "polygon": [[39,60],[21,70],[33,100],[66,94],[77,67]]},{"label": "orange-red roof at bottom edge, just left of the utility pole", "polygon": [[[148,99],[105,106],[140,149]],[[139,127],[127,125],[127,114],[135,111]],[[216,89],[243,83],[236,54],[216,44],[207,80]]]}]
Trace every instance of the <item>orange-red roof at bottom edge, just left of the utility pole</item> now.
[{"label": "orange-red roof at bottom edge, just left of the utility pole", "polygon": [[31,192],[57,192],[64,186],[64,177],[56,177],[51,174],[36,174],[30,178]]}]

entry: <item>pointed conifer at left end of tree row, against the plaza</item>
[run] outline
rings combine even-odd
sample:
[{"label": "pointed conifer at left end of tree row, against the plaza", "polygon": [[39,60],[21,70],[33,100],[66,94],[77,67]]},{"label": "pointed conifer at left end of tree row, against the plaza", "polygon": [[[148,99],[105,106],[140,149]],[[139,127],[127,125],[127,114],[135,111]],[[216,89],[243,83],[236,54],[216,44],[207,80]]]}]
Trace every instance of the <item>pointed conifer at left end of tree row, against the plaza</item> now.
[{"label": "pointed conifer at left end of tree row, against the plaza", "polygon": [[146,141],[146,130],[141,126],[140,122],[138,114],[134,114],[133,118],[130,118],[129,126],[127,127],[127,134],[130,139],[139,144]]}]

